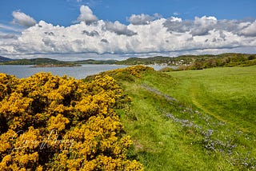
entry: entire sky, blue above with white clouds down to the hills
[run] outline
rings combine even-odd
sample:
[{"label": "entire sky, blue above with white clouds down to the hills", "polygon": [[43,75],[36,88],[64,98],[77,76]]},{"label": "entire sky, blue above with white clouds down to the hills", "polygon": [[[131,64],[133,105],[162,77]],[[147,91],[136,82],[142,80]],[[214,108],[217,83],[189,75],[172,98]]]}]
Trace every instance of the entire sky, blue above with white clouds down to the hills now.
[{"label": "entire sky, blue above with white clouds down to the hills", "polygon": [[1,0],[0,55],[256,54],[255,0]]}]

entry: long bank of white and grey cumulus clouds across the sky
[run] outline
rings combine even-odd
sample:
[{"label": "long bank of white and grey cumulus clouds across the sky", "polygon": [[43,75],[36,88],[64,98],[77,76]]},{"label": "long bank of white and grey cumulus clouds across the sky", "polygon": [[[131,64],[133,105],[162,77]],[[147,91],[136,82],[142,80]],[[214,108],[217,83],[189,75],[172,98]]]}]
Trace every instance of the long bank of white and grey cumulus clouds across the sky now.
[{"label": "long bank of white and grey cumulus clouds across the sky", "polygon": [[80,13],[79,23],[64,27],[44,21],[35,23],[33,18],[14,11],[14,22],[29,28],[18,37],[1,34],[1,54],[218,53],[223,49],[256,52],[256,21],[133,14],[125,25],[99,20],[88,6],[81,6]]}]

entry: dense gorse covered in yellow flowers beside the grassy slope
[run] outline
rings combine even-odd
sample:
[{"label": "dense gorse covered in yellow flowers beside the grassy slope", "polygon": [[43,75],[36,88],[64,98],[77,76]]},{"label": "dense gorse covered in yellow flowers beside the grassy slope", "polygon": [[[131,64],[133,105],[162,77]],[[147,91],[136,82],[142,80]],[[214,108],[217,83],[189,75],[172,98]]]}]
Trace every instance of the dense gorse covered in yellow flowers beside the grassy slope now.
[{"label": "dense gorse covered in yellow flowers beside the grassy slope", "polygon": [[0,170],[143,169],[126,157],[132,141],[114,113],[120,98],[108,75],[0,74]]}]

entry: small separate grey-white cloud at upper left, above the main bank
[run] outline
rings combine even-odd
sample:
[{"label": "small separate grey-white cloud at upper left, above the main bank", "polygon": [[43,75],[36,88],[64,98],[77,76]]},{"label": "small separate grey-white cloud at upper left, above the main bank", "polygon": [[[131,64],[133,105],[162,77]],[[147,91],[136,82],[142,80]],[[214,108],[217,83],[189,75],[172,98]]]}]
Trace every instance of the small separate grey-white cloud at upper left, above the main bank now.
[{"label": "small separate grey-white cloud at upper left, above the main bank", "polygon": [[14,20],[12,23],[18,24],[20,26],[30,27],[34,26],[37,22],[34,20],[34,18],[31,18],[29,15],[24,14],[20,11],[14,11],[13,12]]}]

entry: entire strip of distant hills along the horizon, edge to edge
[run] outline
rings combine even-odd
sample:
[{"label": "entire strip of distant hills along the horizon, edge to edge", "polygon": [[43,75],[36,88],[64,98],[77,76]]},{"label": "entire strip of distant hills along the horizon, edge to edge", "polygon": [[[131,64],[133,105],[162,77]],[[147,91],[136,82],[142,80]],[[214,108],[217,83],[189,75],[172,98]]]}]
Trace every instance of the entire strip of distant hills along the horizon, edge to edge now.
[{"label": "entire strip of distant hills along the horizon, edge to edge", "polygon": [[256,54],[202,54],[182,55],[178,57],[127,58],[117,60],[87,59],[76,62],[63,62],[51,58],[32,58],[13,60],[0,56],[1,65],[37,65],[37,66],[76,66],[80,64],[115,64],[115,65],[164,65],[178,66],[178,70],[201,70],[218,66],[253,66],[256,65]]}]

